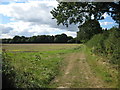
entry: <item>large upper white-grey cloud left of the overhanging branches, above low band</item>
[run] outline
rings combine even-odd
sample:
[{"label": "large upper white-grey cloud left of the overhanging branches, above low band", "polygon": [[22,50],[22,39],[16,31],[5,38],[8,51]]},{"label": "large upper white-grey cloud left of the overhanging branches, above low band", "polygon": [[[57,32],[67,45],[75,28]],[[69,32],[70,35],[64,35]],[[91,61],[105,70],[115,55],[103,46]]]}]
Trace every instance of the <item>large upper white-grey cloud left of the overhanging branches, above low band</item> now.
[{"label": "large upper white-grey cloud left of the overhanging branches, above low band", "polygon": [[[31,25],[47,24],[54,28],[71,29],[71,27],[66,28],[62,25],[58,26],[56,20],[52,19],[50,11],[53,9],[53,5],[56,7],[57,3],[41,3],[37,1],[31,1],[29,3],[12,3],[7,6],[3,5],[0,12],[6,16],[12,17],[12,20],[31,22]],[[73,30],[76,30],[76,25],[71,26],[74,28]]]}]

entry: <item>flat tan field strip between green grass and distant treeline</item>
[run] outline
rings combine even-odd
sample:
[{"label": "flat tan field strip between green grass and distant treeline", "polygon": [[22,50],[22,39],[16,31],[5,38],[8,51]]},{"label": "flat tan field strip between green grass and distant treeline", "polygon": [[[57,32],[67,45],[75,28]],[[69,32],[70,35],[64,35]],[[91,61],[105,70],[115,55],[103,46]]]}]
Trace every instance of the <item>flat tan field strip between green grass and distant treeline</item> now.
[{"label": "flat tan field strip between green grass and distant treeline", "polygon": [[75,48],[77,44],[3,44],[7,51],[53,51]]}]

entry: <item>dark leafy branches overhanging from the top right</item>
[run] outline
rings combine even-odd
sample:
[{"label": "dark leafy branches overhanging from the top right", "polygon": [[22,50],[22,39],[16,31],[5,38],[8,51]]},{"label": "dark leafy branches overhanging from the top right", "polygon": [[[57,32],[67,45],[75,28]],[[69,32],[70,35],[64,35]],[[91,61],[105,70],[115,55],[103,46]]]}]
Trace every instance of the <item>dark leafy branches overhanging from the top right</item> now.
[{"label": "dark leafy branches overhanging from the top right", "polygon": [[51,11],[53,19],[57,24],[68,27],[69,24],[82,25],[86,20],[104,19],[103,14],[110,15],[116,23],[120,23],[120,1],[119,2],[60,2],[57,8]]}]

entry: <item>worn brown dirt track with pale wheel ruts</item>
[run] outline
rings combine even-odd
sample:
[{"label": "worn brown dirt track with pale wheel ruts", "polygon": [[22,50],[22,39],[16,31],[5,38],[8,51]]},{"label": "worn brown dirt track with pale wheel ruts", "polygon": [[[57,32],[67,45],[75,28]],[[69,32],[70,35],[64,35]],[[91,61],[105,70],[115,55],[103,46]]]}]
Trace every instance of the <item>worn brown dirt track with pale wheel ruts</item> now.
[{"label": "worn brown dirt track with pale wheel ruts", "polygon": [[58,75],[54,83],[58,88],[101,88],[101,79],[96,77],[90,69],[83,52],[72,53],[65,58],[62,74]]}]

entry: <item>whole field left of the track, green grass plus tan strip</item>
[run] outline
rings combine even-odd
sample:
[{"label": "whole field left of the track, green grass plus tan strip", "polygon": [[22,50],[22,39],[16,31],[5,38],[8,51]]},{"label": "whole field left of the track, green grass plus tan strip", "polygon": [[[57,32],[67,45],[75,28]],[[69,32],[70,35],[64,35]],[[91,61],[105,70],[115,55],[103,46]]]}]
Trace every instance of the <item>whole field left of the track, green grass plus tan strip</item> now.
[{"label": "whole field left of the track, green grass plus tan strip", "polygon": [[[50,87],[49,83],[59,73],[63,56],[76,52],[76,46],[79,45],[3,45],[3,49],[6,49],[7,57],[10,59],[10,64],[14,67],[15,87]],[[30,52],[35,50],[38,52]]]}]

